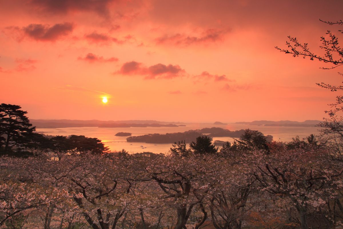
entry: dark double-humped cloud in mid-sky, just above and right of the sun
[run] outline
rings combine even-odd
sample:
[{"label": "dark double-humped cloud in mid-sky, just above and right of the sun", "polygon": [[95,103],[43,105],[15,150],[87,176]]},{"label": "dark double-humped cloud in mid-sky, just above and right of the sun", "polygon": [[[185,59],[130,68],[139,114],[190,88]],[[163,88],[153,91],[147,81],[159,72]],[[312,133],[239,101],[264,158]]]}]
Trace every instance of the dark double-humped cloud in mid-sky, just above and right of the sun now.
[{"label": "dark double-humped cloud in mid-sky, just above and right of the sun", "polygon": [[185,70],[181,69],[178,65],[156,64],[145,67],[139,62],[131,61],[123,64],[116,73],[122,75],[142,75],[145,76],[145,79],[171,79],[182,76],[185,73]]}]

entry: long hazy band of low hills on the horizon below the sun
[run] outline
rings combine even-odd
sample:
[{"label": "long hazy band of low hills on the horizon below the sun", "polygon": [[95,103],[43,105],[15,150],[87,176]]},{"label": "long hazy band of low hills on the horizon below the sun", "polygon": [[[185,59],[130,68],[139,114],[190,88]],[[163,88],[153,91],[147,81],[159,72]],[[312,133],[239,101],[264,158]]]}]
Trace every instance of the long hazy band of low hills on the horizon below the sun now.
[{"label": "long hazy band of low hills on the horizon below the sun", "polygon": [[[178,127],[180,122],[161,122],[156,120],[70,120],[70,119],[30,119],[36,128],[66,128],[66,127]],[[180,125],[184,126],[184,125]]]}]

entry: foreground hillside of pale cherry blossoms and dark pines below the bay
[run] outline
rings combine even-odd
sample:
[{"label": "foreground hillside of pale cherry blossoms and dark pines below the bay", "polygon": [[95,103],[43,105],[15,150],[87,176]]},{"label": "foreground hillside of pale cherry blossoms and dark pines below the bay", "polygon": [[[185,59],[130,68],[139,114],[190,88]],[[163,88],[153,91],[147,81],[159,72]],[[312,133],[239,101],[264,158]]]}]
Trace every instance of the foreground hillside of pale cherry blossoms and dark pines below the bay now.
[{"label": "foreground hillside of pale cherry blossoms and dark pines below the bay", "polygon": [[343,222],[337,131],[285,143],[247,129],[220,150],[201,135],[189,147],[175,142],[168,154],[128,154],[96,138],[34,133],[20,108],[1,104],[0,228],[308,229]]}]

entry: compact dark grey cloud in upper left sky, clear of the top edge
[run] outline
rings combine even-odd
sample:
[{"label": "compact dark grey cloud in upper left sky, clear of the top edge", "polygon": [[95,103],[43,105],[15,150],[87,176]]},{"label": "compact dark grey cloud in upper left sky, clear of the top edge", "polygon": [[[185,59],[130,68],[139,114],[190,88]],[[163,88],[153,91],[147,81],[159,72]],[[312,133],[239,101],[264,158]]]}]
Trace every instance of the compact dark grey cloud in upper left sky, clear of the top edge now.
[{"label": "compact dark grey cloud in upper left sky, clear of the top edge", "polygon": [[43,24],[29,24],[22,28],[24,34],[36,41],[56,41],[73,31],[72,23],[55,24],[53,26]]}]

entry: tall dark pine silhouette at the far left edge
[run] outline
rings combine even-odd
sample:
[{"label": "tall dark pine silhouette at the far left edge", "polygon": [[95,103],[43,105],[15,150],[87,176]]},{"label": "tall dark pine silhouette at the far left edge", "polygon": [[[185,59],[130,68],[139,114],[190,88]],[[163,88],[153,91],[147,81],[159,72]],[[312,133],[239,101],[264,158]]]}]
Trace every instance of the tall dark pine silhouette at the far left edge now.
[{"label": "tall dark pine silhouette at the far left edge", "polygon": [[35,130],[29,119],[25,116],[21,106],[1,103],[0,105],[0,147],[4,145],[7,153],[13,147],[22,147],[28,142],[28,137]]}]

